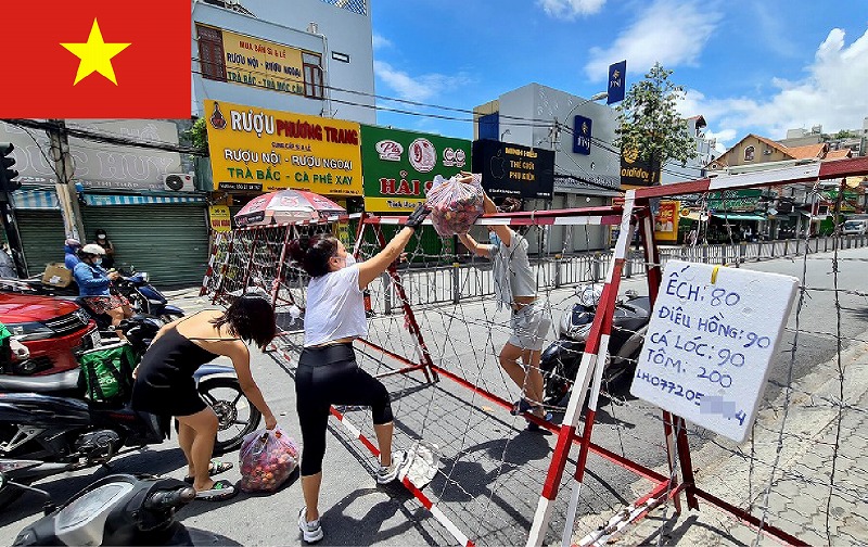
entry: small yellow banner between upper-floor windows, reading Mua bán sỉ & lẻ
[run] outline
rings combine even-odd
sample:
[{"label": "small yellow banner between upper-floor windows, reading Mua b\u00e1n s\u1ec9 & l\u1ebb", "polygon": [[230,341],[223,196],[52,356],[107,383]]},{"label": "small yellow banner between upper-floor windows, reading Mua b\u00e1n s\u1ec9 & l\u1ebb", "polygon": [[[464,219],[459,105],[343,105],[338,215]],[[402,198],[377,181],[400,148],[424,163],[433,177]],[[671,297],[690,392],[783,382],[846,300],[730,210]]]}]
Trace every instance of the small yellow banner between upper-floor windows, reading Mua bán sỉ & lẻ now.
[{"label": "small yellow banner between upper-floor windows, reading Mua b\u00e1n s\u1ec9 & l\u1ebb", "polygon": [[222,35],[227,81],[304,94],[301,50],[229,30]]}]

